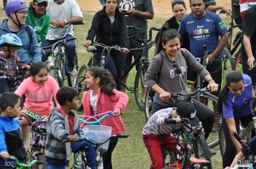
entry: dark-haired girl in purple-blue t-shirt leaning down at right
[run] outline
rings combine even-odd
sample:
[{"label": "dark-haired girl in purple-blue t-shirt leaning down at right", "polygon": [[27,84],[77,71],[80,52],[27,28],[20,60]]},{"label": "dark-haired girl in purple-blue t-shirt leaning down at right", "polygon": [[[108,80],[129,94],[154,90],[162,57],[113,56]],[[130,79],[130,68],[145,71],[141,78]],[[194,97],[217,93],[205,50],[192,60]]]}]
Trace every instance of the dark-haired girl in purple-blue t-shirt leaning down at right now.
[{"label": "dark-haired girl in purple-blue t-shirt leaning down at right", "polygon": [[222,127],[226,142],[226,150],[222,158],[223,168],[229,166],[234,156],[241,150],[240,143],[232,133],[239,133],[240,122],[247,127],[252,121],[251,106],[254,95],[252,79],[247,74],[238,71],[227,74],[226,84],[218,100],[218,110],[222,114]]}]

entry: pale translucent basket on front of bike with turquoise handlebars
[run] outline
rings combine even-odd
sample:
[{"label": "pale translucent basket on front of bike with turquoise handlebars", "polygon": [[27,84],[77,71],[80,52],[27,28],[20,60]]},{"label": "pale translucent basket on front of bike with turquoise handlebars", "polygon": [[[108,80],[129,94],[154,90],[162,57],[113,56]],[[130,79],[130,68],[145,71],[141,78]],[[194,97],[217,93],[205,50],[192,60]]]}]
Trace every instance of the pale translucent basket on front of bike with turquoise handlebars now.
[{"label": "pale translucent basket on front of bike with turquoise handlebars", "polygon": [[[86,125],[81,130],[84,136],[89,137],[93,143],[99,144],[99,152],[106,153],[106,150],[109,148],[108,139],[111,137],[112,127],[106,125]],[[106,140],[108,141],[104,143]]]}]

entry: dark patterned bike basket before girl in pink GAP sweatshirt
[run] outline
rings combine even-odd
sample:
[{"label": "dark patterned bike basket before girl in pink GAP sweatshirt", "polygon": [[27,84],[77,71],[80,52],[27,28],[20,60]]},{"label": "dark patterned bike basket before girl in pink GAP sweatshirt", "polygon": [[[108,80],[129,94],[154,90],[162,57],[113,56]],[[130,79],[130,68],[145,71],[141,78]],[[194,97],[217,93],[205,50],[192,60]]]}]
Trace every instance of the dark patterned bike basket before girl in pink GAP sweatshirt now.
[{"label": "dark patterned bike basket before girl in pink GAP sweatshirt", "polygon": [[45,148],[46,120],[37,120],[32,123],[32,139],[30,145],[33,148]]}]

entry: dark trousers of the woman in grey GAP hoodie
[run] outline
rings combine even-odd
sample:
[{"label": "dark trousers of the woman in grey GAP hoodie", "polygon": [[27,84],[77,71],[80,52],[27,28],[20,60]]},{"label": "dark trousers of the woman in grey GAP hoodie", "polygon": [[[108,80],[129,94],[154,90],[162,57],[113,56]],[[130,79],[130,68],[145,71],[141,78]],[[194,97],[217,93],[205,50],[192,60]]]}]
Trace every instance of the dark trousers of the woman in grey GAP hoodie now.
[{"label": "dark trousers of the woman in grey GAP hoodie", "polygon": [[[211,109],[209,109],[209,107],[202,104],[201,102],[197,102],[196,100],[193,100],[193,102],[196,107],[196,117],[198,117],[198,120],[195,119],[193,121],[202,122],[204,131],[206,132],[205,137],[207,139],[214,125],[214,112]],[[161,110],[167,107],[170,107],[170,106],[158,105],[155,102],[153,102],[152,111],[157,112],[158,110]]]}]

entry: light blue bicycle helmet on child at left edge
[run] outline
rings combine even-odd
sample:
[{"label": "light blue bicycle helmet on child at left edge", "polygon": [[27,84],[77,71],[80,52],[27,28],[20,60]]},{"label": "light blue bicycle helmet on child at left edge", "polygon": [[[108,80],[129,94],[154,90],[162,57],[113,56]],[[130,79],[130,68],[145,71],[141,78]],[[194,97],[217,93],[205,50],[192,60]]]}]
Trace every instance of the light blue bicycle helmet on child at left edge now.
[{"label": "light blue bicycle helmet on child at left edge", "polygon": [[22,41],[16,34],[3,34],[0,37],[0,46],[22,47]]}]

